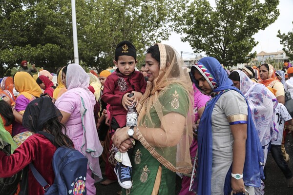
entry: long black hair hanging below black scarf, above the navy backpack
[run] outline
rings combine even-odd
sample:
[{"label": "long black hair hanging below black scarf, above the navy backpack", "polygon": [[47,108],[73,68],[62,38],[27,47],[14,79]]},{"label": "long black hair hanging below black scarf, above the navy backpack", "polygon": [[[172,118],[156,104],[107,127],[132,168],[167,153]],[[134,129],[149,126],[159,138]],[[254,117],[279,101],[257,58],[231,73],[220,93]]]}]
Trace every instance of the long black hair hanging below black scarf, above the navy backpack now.
[{"label": "long black hair hanging below black scarf, above the navy backpack", "polygon": [[53,117],[44,122],[42,129],[52,134],[54,144],[57,146],[73,147],[72,140],[66,135],[66,126],[59,121],[59,117]]}]

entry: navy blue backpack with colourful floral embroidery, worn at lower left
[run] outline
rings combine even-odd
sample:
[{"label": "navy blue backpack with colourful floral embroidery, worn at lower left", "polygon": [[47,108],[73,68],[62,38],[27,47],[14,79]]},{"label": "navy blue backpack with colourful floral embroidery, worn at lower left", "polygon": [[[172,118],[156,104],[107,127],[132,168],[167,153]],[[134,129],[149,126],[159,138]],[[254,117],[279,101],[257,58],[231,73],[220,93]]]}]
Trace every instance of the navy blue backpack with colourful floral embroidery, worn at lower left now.
[{"label": "navy blue backpack with colourful floral embroidery, worn at lower left", "polygon": [[[52,135],[47,135],[48,133],[40,134],[51,142],[54,140]],[[87,158],[82,153],[73,148],[61,146],[53,155],[52,165],[55,174],[52,186],[45,181],[32,163],[29,165],[33,175],[44,188],[45,195],[86,195]]]}]

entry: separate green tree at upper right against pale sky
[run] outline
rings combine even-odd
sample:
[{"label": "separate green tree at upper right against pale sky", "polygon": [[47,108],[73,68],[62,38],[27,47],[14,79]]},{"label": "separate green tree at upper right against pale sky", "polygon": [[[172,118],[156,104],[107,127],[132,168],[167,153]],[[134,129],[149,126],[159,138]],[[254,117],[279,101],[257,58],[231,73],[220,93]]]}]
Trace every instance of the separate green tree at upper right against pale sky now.
[{"label": "separate green tree at upper right against pale sky", "polygon": [[195,53],[205,52],[225,66],[249,62],[258,42],[252,38],[279,16],[279,0],[194,0],[177,18],[177,32],[186,34]]}]

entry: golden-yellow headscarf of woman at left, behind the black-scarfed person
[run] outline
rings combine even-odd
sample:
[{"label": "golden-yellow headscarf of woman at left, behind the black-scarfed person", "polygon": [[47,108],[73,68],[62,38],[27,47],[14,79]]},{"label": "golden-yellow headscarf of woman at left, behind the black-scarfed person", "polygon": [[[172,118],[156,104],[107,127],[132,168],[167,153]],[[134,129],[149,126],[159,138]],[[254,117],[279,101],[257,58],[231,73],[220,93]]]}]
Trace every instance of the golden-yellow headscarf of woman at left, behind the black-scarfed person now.
[{"label": "golden-yellow headscarf of woman at left, behind the black-scarfed person", "polygon": [[32,96],[39,98],[42,90],[37,82],[27,72],[17,72],[14,76],[15,89],[25,98],[32,100]]}]

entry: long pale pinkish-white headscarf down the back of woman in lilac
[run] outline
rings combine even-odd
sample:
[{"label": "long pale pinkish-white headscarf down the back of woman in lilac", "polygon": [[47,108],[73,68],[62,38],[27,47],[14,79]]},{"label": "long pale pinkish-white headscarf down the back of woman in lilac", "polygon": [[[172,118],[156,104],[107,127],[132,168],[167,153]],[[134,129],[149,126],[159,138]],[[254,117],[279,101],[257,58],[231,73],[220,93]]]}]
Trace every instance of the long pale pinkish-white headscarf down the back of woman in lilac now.
[{"label": "long pale pinkish-white headscarf down the back of woman in lilac", "polygon": [[83,124],[83,143],[81,151],[88,159],[88,165],[92,173],[102,177],[99,156],[102,155],[103,147],[99,140],[95,124],[94,95],[88,90],[89,76],[79,64],[69,64],[66,71],[67,92],[74,92],[81,97],[81,116]]}]

